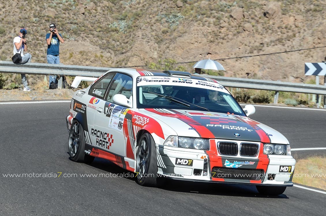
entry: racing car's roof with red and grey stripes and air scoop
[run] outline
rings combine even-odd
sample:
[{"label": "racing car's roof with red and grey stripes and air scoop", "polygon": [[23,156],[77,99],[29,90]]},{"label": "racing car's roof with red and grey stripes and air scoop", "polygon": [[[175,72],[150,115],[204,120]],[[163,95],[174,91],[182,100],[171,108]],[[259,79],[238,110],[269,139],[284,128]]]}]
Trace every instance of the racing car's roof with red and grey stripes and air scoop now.
[{"label": "racing car's roof with red and grey stripes and air scoop", "polygon": [[[165,77],[179,77],[179,78],[191,78],[197,80],[203,80],[213,83],[219,83],[216,80],[200,76],[199,74],[191,74],[185,71],[174,71],[174,70],[154,70],[154,69],[139,69],[139,68],[114,68],[108,72],[125,72],[132,75],[134,78],[139,76],[165,76]],[[220,83],[219,83],[220,84]]]}]

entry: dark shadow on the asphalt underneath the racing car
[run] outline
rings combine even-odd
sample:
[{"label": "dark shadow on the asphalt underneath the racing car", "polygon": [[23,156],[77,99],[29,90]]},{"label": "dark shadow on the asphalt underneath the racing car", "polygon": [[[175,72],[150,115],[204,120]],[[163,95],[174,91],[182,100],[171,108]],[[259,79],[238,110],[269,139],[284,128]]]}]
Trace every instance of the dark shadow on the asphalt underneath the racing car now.
[{"label": "dark shadow on the asphalt underneath the racing car", "polygon": [[[123,176],[124,178],[136,183],[135,173],[129,172],[105,159],[95,158],[90,166],[100,169],[102,173],[107,172]],[[137,185],[138,186],[138,185]],[[141,186],[138,186],[141,187]],[[143,188],[146,189],[145,187]],[[274,198],[274,199],[289,199],[286,194],[267,196],[259,194],[256,187],[253,185],[237,185],[226,183],[209,183],[209,182],[194,182],[182,181],[175,179],[166,179],[163,187],[159,190],[180,192],[180,193],[200,193],[220,196],[238,196],[238,197],[257,197],[257,198]],[[286,191],[285,191],[286,193]]]}]

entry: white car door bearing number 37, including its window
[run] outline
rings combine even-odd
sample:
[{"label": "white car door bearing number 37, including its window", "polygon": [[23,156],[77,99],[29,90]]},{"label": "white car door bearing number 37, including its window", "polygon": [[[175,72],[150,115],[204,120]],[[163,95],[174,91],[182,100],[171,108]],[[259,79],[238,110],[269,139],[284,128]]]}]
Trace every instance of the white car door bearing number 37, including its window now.
[{"label": "white car door bearing number 37, including its window", "polygon": [[127,107],[113,102],[112,97],[116,94],[123,94],[132,101],[132,78],[129,75],[116,73],[105,93],[105,101],[99,107],[102,109],[97,110],[94,119],[96,138],[99,139],[96,142],[101,142],[98,147],[103,150],[126,156],[123,123]]}]

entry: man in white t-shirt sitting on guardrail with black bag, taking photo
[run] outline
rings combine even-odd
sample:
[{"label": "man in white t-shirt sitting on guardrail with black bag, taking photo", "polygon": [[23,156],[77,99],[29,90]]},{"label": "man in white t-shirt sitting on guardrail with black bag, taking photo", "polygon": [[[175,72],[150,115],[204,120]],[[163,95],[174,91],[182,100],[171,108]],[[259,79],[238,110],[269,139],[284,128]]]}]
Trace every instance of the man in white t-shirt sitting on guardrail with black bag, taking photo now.
[{"label": "man in white t-shirt sitting on guardrail with black bag, taking photo", "polygon": [[[19,36],[14,38],[14,55],[16,53],[20,53],[22,56],[22,60],[19,61],[21,64],[25,64],[26,62],[31,62],[32,55],[29,53],[24,54],[24,51],[27,52],[27,42],[26,36],[27,30],[25,28],[21,28],[19,31]],[[30,91],[31,89],[28,87],[27,79],[25,74],[21,74],[22,76],[22,84],[24,85],[23,91]]]}]

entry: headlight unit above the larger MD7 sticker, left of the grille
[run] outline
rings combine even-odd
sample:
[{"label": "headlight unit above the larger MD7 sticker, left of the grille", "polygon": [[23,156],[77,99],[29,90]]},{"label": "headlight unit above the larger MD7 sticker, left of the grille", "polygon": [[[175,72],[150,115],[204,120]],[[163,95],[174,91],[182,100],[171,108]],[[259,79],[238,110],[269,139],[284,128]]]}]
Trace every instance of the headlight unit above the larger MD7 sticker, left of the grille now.
[{"label": "headlight unit above the larger MD7 sticker, left of the grille", "polygon": [[192,148],[198,150],[209,150],[209,140],[200,138],[190,138],[182,136],[169,136],[164,144],[165,146]]}]

